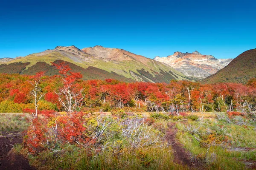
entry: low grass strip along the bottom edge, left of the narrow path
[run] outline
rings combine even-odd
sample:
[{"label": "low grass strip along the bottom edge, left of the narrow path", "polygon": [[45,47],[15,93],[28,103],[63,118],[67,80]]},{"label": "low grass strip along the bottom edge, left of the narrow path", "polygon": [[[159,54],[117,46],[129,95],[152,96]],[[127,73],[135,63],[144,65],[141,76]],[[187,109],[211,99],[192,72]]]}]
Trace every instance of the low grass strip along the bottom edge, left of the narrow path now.
[{"label": "low grass strip along the bottom edge, left of the narrow path", "polygon": [[[16,151],[24,152],[20,146]],[[122,150],[118,156],[112,151],[99,155],[90,154],[76,145],[66,145],[60,152],[41,152],[29,156],[32,166],[47,170],[186,170],[188,167],[175,164],[171,147],[148,148],[146,150]]]}]

